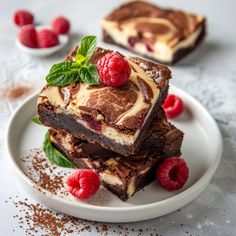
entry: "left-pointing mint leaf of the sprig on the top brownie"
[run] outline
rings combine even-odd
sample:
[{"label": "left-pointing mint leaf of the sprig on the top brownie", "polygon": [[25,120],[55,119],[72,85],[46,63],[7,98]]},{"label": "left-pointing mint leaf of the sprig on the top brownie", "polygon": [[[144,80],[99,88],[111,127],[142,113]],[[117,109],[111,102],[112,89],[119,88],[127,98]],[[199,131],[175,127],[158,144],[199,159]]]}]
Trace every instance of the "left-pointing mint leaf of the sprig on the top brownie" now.
[{"label": "left-pointing mint leaf of the sprig on the top brownie", "polygon": [[50,86],[65,86],[79,81],[78,68],[75,62],[65,61],[54,64],[46,76]]}]

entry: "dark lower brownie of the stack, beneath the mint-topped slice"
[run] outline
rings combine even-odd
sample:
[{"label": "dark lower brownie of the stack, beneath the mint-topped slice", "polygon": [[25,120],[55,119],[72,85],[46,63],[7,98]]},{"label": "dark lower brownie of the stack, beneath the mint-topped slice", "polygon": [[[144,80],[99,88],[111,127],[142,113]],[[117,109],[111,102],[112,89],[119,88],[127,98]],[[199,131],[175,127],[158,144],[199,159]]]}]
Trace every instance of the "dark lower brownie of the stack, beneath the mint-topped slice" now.
[{"label": "dark lower brownie of the stack, beneath the mint-topped slice", "polygon": [[139,153],[130,157],[104,149],[50,129],[53,145],[78,168],[94,169],[103,185],[127,200],[155,178],[158,164],[167,157],[181,155],[183,133],[165,119],[154,122]]}]

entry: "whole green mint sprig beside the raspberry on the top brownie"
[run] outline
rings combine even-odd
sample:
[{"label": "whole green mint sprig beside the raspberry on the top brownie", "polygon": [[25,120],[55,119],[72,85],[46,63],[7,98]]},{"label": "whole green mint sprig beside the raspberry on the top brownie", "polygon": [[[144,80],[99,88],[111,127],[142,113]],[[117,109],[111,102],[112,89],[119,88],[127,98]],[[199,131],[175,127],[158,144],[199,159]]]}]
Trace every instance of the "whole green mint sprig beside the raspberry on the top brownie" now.
[{"label": "whole green mint sprig beside the raspberry on the top brownie", "polygon": [[49,86],[65,86],[79,81],[89,85],[99,84],[96,66],[89,63],[96,45],[96,36],[83,37],[76,52],[75,61],[54,64],[46,76],[47,84]]}]

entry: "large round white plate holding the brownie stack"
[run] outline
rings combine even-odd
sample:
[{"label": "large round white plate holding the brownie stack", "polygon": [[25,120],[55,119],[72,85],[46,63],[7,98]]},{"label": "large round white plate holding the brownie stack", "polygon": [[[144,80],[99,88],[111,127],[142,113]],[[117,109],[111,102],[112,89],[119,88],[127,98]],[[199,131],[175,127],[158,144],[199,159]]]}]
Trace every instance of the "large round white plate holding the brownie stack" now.
[{"label": "large round white plate holding the brownie stack", "polygon": [[[185,133],[182,152],[190,169],[190,178],[183,189],[168,192],[153,182],[127,202],[122,202],[103,188],[88,201],[79,201],[70,195],[52,194],[35,187],[34,181],[27,176],[25,162],[21,161],[27,151],[42,146],[47,130],[31,122],[36,114],[35,94],[16,110],[7,128],[6,137],[9,158],[26,191],[50,208],[79,218],[103,222],[151,219],[173,212],[191,202],[206,188],[220,162],[222,137],[216,122],[199,102],[175,87],[171,87],[170,92],[179,95],[185,103],[185,111],[171,120]],[[56,169],[73,171],[59,167]]]}]

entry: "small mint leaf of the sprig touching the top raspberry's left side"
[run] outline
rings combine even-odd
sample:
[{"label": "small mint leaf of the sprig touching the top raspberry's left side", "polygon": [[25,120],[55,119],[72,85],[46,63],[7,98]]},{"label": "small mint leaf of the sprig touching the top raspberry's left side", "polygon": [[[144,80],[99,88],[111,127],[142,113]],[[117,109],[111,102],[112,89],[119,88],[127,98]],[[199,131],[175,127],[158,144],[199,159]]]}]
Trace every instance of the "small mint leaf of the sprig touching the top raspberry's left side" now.
[{"label": "small mint leaf of the sprig touching the top raspberry's left side", "polygon": [[79,77],[85,84],[89,85],[99,84],[99,76],[97,68],[94,64],[82,67],[79,70]]}]

